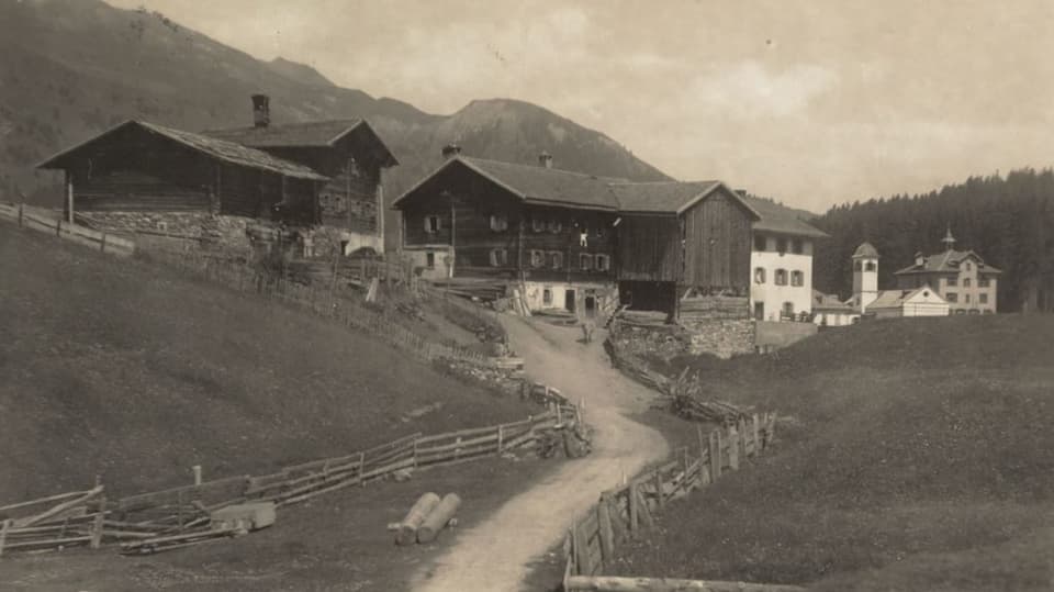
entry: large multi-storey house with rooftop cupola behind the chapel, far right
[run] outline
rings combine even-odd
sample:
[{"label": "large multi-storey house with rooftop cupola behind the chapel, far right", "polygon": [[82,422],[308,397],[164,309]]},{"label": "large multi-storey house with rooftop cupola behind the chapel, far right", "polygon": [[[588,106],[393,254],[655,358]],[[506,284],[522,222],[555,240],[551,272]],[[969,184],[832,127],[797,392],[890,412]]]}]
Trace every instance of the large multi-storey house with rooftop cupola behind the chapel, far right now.
[{"label": "large multi-storey house with rooftop cupola behind the chapel, far right", "polygon": [[932,287],[948,302],[952,314],[996,312],[996,283],[1002,271],[987,265],[973,250],[955,250],[951,227],[941,242],[943,253],[929,257],[918,253],[912,265],[895,273],[899,287]]}]

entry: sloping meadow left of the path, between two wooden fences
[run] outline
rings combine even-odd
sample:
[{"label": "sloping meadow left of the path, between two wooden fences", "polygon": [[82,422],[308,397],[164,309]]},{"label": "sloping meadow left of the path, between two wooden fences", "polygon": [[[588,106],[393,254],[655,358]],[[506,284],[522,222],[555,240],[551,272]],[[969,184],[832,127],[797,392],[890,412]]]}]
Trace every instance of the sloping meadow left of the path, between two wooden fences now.
[{"label": "sloping meadow left of the path, between two wooden fences", "polygon": [[143,491],[192,465],[260,471],[536,411],[294,309],[9,224],[0,278],[0,500],[96,473]]}]

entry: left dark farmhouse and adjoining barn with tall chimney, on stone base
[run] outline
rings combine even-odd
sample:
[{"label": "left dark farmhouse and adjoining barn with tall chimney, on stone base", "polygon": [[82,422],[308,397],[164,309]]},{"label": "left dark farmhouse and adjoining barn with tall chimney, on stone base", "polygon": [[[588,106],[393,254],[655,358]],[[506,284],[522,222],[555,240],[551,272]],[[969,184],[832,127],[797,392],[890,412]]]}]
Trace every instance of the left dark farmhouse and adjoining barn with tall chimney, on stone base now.
[{"label": "left dark farmhouse and adjoining barn with tall chimney, on stone base", "polygon": [[[191,133],[127,121],[40,165],[64,170],[66,214],[110,232],[245,238],[249,221],[329,228],[346,253],[383,248],[382,170],[395,158],[360,120]],[[311,233],[305,231],[305,235]]]}]

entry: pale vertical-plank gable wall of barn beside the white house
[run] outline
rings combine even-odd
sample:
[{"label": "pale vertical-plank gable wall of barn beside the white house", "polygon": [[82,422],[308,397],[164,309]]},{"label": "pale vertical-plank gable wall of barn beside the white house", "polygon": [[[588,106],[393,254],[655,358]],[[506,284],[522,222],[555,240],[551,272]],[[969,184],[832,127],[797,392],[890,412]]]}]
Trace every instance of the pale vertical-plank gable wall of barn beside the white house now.
[{"label": "pale vertical-plank gable wall of barn beside the white house", "polygon": [[682,215],[684,267],[680,283],[744,291],[750,287],[750,213],[715,192]]}]

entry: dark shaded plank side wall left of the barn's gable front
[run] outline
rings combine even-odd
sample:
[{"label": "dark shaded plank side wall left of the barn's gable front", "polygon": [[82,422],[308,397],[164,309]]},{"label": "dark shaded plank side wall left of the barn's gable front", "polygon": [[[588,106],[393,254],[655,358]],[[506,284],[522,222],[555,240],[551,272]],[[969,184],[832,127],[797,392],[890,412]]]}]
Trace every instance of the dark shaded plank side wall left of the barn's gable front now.
[{"label": "dark shaded plank side wall left of the barn's gable front", "polygon": [[626,215],[618,225],[618,279],[677,281],[681,230],[676,217]]}]

